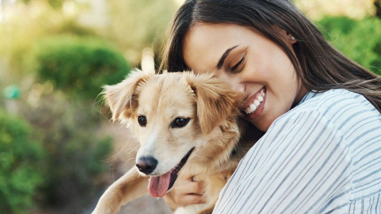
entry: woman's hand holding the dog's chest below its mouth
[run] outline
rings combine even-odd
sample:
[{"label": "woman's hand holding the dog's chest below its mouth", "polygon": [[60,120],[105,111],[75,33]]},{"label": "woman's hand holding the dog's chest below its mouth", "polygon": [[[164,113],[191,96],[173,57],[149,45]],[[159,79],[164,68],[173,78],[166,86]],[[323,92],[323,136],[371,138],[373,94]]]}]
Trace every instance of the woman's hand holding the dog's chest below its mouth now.
[{"label": "woman's hand holding the dog's chest below its mouth", "polygon": [[193,181],[191,176],[180,173],[172,190],[164,196],[164,201],[171,209],[190,204],[203,204],[206,203],[203,191],[202,181]]}]

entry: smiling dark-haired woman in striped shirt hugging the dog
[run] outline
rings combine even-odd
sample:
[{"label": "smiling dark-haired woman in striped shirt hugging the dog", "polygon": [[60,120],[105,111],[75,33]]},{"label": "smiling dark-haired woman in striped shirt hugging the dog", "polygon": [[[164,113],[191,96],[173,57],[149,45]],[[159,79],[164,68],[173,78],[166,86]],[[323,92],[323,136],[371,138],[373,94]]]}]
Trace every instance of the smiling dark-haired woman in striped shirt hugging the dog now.
[{"label": "smiling dark-haired woman in striped shirt hugging the dog", "polygon": [[[187,0],[163,69],[215,71],[266,132],[213,213],[381,212],[381,80],[333,48],[288,0]],[[166,201],[202,203],[181,178]]]}]

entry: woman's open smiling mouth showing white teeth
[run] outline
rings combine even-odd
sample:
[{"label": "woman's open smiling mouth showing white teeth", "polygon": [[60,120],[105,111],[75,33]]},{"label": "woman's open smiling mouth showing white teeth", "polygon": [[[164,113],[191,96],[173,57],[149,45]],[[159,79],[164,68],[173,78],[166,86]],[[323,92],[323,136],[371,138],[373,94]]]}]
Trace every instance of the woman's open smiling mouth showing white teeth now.
[{"label": "woman's open smiling mouth showing white teeth", "polygon": [[266,88],[263,87],[250,99],[251,101],[244,111],[247,114],[247,117],[253,120],[263,112],[263,106],[266,101]]}]

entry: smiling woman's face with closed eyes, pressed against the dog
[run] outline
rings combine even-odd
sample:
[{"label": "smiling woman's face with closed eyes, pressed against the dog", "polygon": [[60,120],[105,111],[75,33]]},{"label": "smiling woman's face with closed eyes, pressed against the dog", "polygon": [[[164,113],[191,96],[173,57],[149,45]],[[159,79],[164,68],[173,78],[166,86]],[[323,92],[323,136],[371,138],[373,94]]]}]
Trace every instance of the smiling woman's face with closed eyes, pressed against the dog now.
[{"label": "smiling woman's face with closed eyes, pressed against the dog", "polygon": [[[284,30],[279,29],[292,45]],[[283,49],[248,26],[198,24],[183,42],[184,61],[196,73],[215,71],[245,99],[243,118],[267,131],[306,94]]]}]

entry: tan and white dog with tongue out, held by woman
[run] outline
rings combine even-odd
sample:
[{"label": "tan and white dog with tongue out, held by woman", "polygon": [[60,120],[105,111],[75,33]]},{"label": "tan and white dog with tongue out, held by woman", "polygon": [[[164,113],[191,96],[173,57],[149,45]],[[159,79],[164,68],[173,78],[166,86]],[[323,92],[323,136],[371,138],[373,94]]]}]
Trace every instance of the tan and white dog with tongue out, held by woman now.
[{"label": "tan and white dog with tongue out, held by woman", "polygon": [[[179,172],[204,181],[207,204],[175,213],[210,214],[239,161],[257,139],[242,139],[240,94],[213,73],[156,74],[153,60],[142,62],[122,82],[104,86],[112,120],[136,133],[136,166],[101,196],[93,214],[114,214],[147,192],[163,197]],[[147,188],[148,187],[148,188]]]}]

